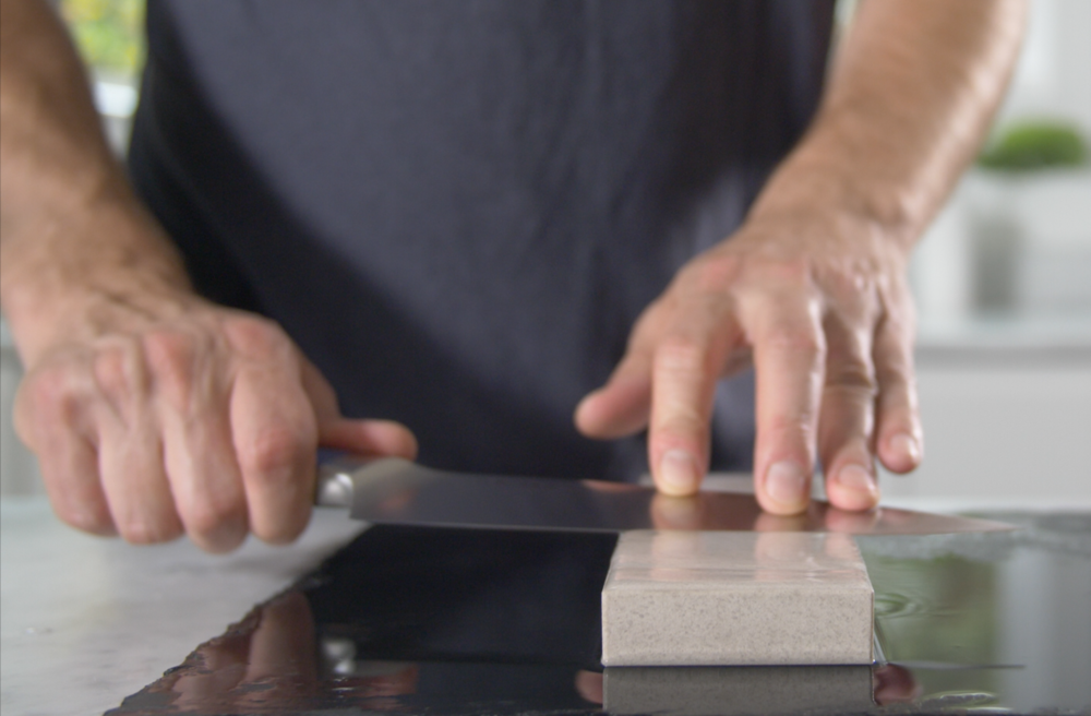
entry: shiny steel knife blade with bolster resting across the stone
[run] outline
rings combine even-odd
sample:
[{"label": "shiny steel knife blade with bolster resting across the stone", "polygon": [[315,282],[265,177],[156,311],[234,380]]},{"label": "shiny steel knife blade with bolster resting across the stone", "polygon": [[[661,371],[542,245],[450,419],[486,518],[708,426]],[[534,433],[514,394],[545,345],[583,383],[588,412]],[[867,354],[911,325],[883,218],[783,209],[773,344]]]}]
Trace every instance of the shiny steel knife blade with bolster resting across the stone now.
[{"label": "shiny steel knife blade with bolster resting across the stone", "polygon": [[669,498],[654,488],[596,480],[447,473],[400,458],[338,457],[319,467],[315,502],[348,506],[376,524],[624,532],[628,529],[840,532],[930,535],[1011,529],[985,520],[879,508],[843,512],[813,501],[778,517],[753,494],[700,492]]}]

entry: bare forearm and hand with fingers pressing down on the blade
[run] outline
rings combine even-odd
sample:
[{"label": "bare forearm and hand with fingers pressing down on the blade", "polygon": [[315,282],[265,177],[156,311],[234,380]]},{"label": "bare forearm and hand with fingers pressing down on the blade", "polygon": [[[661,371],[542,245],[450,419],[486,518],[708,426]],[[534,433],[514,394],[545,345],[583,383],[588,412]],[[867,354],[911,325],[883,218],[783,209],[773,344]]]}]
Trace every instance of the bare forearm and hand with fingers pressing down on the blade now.
[{"label": "bare forearm and hand with fingers pressing down on the blade", "polygon": [[973,156],[1023,26],[1020,0],[865,0],[806,138],[742,228],[690,262],[576,411],[615,438],[648,428],[656,485],[696,491],[717,381],[753,359],[758,500],[806,509],[816,457],[830,502],[878,501],[874,455],[921,461],[910,248]]}]

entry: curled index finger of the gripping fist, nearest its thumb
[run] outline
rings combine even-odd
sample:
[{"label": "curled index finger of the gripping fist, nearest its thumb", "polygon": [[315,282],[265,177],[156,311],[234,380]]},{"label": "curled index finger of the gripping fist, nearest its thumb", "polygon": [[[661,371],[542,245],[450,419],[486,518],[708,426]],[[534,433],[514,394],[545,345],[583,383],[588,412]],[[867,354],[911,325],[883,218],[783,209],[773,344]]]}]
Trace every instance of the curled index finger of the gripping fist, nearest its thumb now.
[{"label": "curled index finger of the gripping fist, nearest its thumb", "polygon": [[268,542],[291,541],[310,520],[317,445],[295,357],[240,368],[230,415],[250,528]]}]

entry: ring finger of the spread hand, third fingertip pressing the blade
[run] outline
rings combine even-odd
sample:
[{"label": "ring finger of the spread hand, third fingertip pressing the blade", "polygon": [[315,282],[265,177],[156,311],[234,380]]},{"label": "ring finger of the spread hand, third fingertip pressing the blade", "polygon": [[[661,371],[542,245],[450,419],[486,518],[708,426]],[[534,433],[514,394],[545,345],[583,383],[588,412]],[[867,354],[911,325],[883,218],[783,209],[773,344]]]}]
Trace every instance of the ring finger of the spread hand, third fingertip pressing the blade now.
[{"label": "ring finger of the spread hand, third fingertip pressing the blade", "polygon": [[879,500],[871,452],[877,393],[871,325],[868,317],[840,313],[825,322],[828,351],[818,452],[826,494],[841,510],[870,510]]}]

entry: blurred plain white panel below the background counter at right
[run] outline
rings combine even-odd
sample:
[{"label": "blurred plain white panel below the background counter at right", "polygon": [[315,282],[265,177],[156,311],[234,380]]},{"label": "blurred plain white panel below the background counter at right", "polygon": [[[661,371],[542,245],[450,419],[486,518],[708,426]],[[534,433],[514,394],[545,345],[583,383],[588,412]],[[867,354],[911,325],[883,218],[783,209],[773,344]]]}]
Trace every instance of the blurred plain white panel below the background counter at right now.
[{"label": "blurred plain white panel below the background counter at right", "polygon": [[884,494],[1091,508],[1091,348],[1052,358],[946,354],[925,354],[919,367],[924,464],[884,476]]}]

